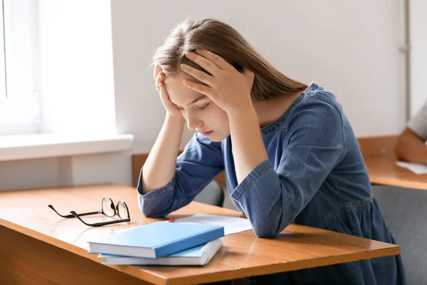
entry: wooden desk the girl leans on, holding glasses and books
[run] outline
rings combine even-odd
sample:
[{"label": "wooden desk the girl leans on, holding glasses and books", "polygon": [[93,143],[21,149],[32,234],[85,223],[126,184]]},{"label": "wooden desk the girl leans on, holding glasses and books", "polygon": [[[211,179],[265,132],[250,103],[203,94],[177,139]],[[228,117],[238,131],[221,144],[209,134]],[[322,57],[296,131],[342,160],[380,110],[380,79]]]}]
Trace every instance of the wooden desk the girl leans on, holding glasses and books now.
[{"label": "wooden desk the girl leans on, holding glasses and books", "polygon": [[[132,222],[86,227],[58,212],[100,209],[102,197],[124,199]],[[192,202],[175,217],[241,213]],[[86,217],[95,222],[110,218]],[[0,192],[0,276],[3,284],[195,284],[271,274],[360,259],[399,254],[399,246],[291,224],[274,239],[252,231],[225,237],[223,247],[206,266],[105,266],[88,254],[86,241],[117,230],[154,222],[139,213],[135,188],[117,185]]]}]

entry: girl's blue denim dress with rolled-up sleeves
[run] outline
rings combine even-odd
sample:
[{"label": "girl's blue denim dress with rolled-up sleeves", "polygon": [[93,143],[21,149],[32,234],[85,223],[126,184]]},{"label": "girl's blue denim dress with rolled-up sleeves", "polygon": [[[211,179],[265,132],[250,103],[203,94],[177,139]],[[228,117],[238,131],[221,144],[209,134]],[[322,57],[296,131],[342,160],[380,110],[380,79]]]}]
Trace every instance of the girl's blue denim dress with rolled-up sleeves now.
[{"label": "girl's blue denim dress with rolled-up sleeves", "polygon": [[[196,133],[179,155],[171,182],[142,195],[139,179],[142,213],[163,217],[189,204],[225,170],[231,201],[258,237],[274,237],[295,223],[395,243],[372,196],[352,127],[332,93],[311,83],[261,133],[268,160],[240,184],[230,136],[211,142]],[[400,255],[254,279],[260,284],[406,284]]]}]

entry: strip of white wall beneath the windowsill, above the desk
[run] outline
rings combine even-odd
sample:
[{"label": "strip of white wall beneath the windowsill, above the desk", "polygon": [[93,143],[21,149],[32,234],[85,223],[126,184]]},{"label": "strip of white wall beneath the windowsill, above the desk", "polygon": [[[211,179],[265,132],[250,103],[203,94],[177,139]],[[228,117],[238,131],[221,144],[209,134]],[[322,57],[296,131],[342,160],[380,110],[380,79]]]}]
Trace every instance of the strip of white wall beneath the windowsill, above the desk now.
[{"label": "strip of white wall beneath the windowsill, above the desk", "polygon": [[0,162],[0,191],[106,183],[130,185],[130,155],[110,152]]}]

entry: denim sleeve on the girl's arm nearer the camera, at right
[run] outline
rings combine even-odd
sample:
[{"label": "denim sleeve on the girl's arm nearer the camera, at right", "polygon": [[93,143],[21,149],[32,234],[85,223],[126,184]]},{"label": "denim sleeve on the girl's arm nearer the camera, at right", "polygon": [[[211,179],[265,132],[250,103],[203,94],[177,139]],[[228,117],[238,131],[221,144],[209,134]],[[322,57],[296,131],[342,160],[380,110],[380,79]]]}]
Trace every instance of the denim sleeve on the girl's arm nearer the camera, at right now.
[{"label": "denim sleeve on the girl's arm nearer the camera, at right", "polygon": [[320,99],[292,109],[283,127],[280,162],[257,165],[231,194],[258,237],[285,229],[319,190],[344,155],[341,113]]}]

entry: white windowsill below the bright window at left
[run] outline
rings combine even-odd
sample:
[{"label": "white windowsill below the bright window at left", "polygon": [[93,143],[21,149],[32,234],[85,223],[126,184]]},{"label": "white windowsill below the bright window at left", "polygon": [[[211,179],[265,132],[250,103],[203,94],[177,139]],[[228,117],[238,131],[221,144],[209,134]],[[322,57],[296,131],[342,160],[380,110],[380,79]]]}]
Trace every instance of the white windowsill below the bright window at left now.
[{"label": "white windowsill below the bright window at left", "polygon": [[132,148],[133,135],[65,136],[52,134],[0,136],[0,161],[119,152]]}]

